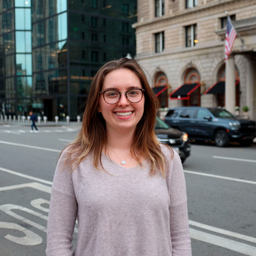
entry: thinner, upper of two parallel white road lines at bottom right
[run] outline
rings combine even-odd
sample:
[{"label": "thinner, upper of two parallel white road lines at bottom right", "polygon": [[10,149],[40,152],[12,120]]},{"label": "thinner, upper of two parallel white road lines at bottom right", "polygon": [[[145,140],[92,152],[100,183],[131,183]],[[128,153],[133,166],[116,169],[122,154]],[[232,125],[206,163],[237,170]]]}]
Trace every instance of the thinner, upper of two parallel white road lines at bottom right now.
[{"label": "thinner, upper of two parallel white road lines at bottom right", "polygon": [[215,233],[221,233],[223,235],[233,236],[233,237],[238,238],[238,239],[242,239],[242,240],[245,240],[245,241],[248,241],[248,242],[256,243],[256,238],[255,237],[245,236],[245,235],[242,235],[240,233],[235,233],[235,232],[232,232],[232,231],[223,230],[221,228],[212,227],[212,226],[202,224],[202,223],[196,222],[196,221],[188,221],[188,222],[189,222],[190,226],[200,227],[204,230],[210,230],[210,231],[213,231]]}]

